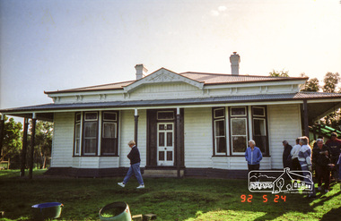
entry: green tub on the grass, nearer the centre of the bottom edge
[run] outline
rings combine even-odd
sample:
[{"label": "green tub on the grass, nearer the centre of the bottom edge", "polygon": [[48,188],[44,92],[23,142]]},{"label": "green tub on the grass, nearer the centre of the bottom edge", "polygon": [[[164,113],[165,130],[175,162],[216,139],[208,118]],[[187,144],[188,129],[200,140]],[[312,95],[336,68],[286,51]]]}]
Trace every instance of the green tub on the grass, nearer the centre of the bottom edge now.
[{"label": "green tub on the grass, nearer the centre of the bottom edge", "polygon": [[104,221],[131,221],[130,210],[126,202],[113,202],[101,208],[100,219]]}]

